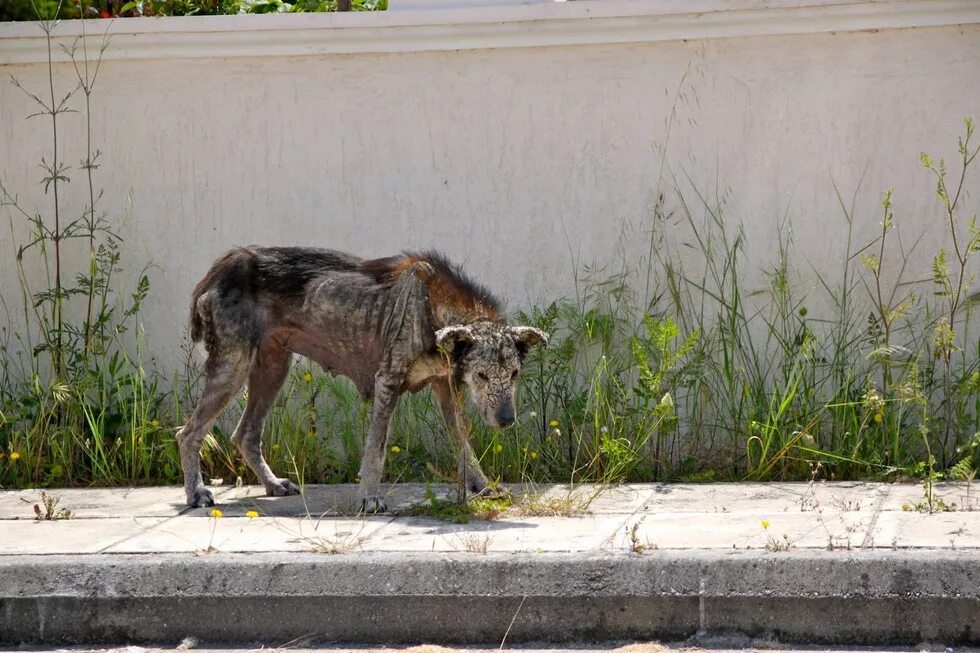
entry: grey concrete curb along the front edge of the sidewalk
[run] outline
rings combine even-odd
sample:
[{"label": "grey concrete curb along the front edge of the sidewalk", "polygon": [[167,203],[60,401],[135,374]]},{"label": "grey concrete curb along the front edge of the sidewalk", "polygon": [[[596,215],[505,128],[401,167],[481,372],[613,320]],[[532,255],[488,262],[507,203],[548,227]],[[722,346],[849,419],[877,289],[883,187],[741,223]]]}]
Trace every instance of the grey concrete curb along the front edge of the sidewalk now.
[{"label": "grey concrete curb along the front edge of the sidewalk", "polygon": [[[516,615],[516,617],[515,617]],[[976,551],[0,559],[0,644],[980,644]]]}]

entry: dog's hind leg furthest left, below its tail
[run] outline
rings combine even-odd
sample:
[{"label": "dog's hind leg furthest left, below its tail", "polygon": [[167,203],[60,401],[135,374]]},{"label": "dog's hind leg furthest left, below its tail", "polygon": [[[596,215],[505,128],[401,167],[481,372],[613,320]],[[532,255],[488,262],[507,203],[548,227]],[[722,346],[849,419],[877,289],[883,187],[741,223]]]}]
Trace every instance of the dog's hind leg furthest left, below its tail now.
[{"label": "dog's hind leg furthest left, below its tail", "polygon": [[177,434],[180,464],[184,470],[184,492],[192,508],[213,506],[214,495],[201,478],[201,444],[214,420],[241,389],[248,374],[250,357],[245,354],[208,359],[204,392],[190,420]]}]

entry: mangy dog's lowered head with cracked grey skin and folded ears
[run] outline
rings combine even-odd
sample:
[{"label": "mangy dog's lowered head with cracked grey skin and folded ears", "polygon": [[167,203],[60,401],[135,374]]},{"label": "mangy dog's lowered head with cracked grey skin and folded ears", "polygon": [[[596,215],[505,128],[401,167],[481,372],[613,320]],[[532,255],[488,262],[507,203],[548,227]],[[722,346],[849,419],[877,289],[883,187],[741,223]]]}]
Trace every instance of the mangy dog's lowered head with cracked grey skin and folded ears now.
[{"label": "mangy dog's lowered head with cracked grey skin and folded ears", "polygon": [[452,363],[457,383],[465,383],[489,426],[514,423],[517,376],[529,351],[548,344],[548,334],[534,327],[477,322],[439,329],[436,343]]}]

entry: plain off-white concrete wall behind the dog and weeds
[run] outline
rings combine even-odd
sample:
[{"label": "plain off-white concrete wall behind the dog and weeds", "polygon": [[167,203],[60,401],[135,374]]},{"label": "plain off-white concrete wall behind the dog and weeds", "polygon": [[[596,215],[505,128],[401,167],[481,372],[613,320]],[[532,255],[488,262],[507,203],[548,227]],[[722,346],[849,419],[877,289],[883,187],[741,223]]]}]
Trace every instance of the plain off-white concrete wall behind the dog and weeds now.
[{"label": "plain off-white concrete wall behind the dog and weeds", "polygon": [[[123,35],[99,73],[93,135],[103,156],[99,208],[126,237],[128,270],[152,266],[147,343],[172,360],[190,289],[213,257],[236,244],[320,245],[365,256],[437,247],[512,307],[568,294],[572,253],[611,260],[620,225],[649,220],[661,170],[653,143],[665,141],[672,112],[667,170],[711,193],[731,189],[728,215],[745,225],[756,278],[772,260],[784,215],[799,267],[839,274],[830,260],[839,259],[845,238],[834,182],[848,198],[860,186],[863,237],[877,229],[881,192],[895,188],[907,238],[925,231],[915,259],[927,276],[943,235],[919,152],[954,159],[963,117],[980,118],[980,15],[952,3],[965,24],[943,25],[925,9],[948,2],[874,4],[883,24],[910,4],[930,20],[874,30],[843,18],[837,28],[807,23],[808,14],[799,14],[786,17],[786,29],[759,28],[756,36],[693,38],[692,23],[687,40],[602,43],[597,33],[565,45],[311,56],[268,48],[256,57],[213,56],[216,40],[217,50],[189,45],[186,58],[165,59],[141,56]],[[578,12],[602,5],[567,3]],[[185,21],[176,32],[217,24],[173,20]],[[819,28],[806,33],[807,24]],[[534,28],[542,39],[549,25]],[[7,62],[0,78],[46,92],[46,65],[12,63],[23,60],[14,56],[21,50],[4,29],[14,34],[0,26],[0,62]],[[483,29],[492,36],[506,26],[491,20]],[[155,38],[159,44],[167,35]],[[55,77],[56,88],[74,83],[65,63],[55,65]],[[677,98],[679,88],[686,99]],[[82,108],[80,97],[72,106]],[[21,91],[0,83],[0,179],[25,205],[48,211],[36,164],[50,158],[49,125],[25,121],[33,111]],[[77,169],[82,117],[60,121],[60,153],[74,167],[63,194],[71,217],[87,193]],[[972,181],[969,214],[980,206],[980,174]],[[23,240],[25,229],[19,216],[10,219],[13,235],[6,224],[0,231],[0,292],[16,306],[11,238]],[[81,248],[71,247],[80,260]]]}]

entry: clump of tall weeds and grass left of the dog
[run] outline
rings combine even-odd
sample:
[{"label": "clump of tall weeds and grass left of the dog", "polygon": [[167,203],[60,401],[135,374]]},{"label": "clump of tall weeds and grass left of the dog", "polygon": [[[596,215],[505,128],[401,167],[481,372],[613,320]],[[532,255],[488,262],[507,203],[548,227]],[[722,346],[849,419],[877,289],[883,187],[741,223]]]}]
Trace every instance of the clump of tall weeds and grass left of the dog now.
[{"label": "clump of tall weeds and grass left of the dog", "polygon": [[[161,423],[168,392],[141,362],[139,313],[149,277],[144,270],[134,288],[120,292],[123,241],[99,211],[102,193],[95,188],[100,152],[93,149],[92,91],[108,37],[94,58],[84,38],[65,49],[74,80],[56,91],[50,57],[56,25],[55,20],[41,21],[49,53],[47,92],[13,80],[38,106],[34,117],[50,121],[50,156],[41,162],[41,183],[51,191],[50,211],[25,206],[0,179],[0,207],[9,210],[23,303],[21,329],[0,330],[0,448],[22,452],[24,459],[16,468],[0,466],[0,483],[171,482],[179,464],[172,434]],[[81,169],[87,202],[66,210],[60,188],[69,181],[70,167],[60,150],[60,118],[74,111],[71,103],[79,91],[84,94]],[[15,216],[26,225],[26,241],[20,245]],[[86,253],[86,263],[71,270],[67,261],[76,260],[79,250]],[[28,274],[37,268],[46,280],[43,287]],[[73,307],[82,310],[73,312]]]}]

